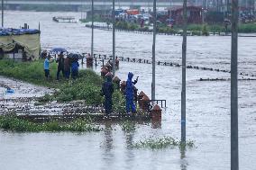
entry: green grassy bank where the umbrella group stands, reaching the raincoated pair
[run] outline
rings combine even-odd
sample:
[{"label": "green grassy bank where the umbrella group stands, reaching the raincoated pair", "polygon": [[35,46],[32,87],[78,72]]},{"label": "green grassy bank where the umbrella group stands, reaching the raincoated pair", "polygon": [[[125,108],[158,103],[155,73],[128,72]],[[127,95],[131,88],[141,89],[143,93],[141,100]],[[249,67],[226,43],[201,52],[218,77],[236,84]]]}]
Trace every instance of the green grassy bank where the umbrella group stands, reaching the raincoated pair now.
[{"label": "green grassy bank where the umbrella group stands, reaching the raincoated pair", "polygon": [[[59,89],[56,93],[46,94],[39,99],[40,103],[50,101],[69,102],[85,100],[88,105],[98,105],[104,102],[100,90],[104,80],[93,70],[79,70],[77,80],[56,80],[57,64],[50,64],[50,79],[44,77],[43,61],[17,62],[0,60],[0,75],[14,77],[35,85]],[[119,91],[113,94],[114,112],[125,112],[124,97]]]}]

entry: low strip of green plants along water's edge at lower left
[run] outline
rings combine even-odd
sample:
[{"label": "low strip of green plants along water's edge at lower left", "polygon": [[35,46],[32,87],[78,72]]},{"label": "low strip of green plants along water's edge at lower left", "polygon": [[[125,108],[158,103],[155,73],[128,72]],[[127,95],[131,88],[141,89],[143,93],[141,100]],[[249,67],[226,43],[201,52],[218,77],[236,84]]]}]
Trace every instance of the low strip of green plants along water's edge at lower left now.
[{"label": "low strip of green plants along water's edge at lower left", "polygon": [[0,116],[0,129],[20,132],[39,131],[100,131],[100,127],[90,119],[70,122],[50,121],[35,123],[17,118],[15,115]]}]

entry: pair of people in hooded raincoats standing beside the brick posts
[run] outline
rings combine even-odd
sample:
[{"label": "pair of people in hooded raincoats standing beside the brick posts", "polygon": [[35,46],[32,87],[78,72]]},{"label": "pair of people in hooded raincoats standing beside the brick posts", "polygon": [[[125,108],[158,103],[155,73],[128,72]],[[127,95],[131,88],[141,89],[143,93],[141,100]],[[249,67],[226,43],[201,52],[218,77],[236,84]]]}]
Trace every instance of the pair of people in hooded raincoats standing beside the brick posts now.
[{"label": "pair of people in hooded raincoats standing beside the brick posts", "polygon": [[[136,112],[134,104],[134,85],[138,82],[138,76],[133,81],[133,73],[128,73],[128,78],[125,87],[125,100],[126,100],[126,112],[131,114]],[[106,76],[105,83],[102,85],[102,94],[105,96],[105,113],[109,115],[112,112],[112,94],[114,93],[114,85],[112,83],[112,76]]]}]

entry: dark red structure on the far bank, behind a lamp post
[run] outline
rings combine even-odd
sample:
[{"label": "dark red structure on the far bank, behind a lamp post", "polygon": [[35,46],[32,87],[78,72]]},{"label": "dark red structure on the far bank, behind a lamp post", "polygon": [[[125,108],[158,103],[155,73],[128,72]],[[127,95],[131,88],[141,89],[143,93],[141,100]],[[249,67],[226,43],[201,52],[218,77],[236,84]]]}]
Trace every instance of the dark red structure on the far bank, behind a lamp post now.
[{"label": "dark red structure on the far bank, behind a lamp post", "polygon": [[[183,23],[183,7],[177,6],[169,8],[169,17],[173,19],[174,24]],[[187,23],[202,23],[202,7],[187,6]]]}]

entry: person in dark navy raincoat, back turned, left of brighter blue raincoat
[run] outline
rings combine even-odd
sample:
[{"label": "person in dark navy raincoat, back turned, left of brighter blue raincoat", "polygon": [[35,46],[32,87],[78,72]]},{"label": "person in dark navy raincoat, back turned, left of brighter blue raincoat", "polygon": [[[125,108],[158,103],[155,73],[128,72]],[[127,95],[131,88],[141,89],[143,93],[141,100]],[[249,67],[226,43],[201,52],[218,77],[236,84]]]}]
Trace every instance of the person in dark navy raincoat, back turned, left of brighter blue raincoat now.
[{"label": "person in dark navy raincoat, back turned, left of brighter blue raincoat", "polygon": [[112,112],[112,94],[114,93],[114,85],[112,83],[112,77],[106,76],[106,81],[102,85],[102,94],[105,96],[105,114],[108,115]]}]

